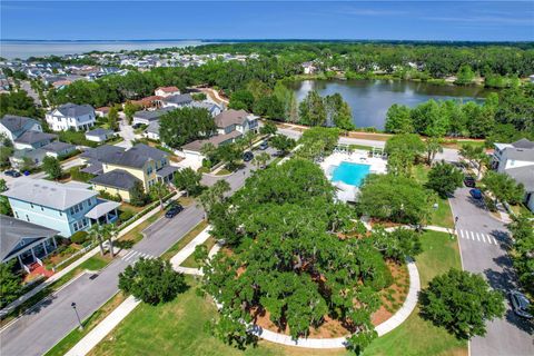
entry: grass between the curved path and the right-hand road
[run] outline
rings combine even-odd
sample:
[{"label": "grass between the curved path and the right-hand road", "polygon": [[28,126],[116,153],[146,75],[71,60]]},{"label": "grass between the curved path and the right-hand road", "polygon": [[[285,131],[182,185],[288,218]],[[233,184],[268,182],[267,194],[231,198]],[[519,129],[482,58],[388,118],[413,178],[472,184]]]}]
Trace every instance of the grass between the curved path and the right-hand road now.
[{"label": "grass between the curved path and the right-hand road", "polygon": [[[422,237],[423,254],[417,256],[422,287],[436,275],[455,267],[461,269],[456,240],[448,234],[427,231]],[[376,339],[365,355],[467,355],[467,343],[456,339],[445,329],[423,320],[418,308],[395,330]]]}]

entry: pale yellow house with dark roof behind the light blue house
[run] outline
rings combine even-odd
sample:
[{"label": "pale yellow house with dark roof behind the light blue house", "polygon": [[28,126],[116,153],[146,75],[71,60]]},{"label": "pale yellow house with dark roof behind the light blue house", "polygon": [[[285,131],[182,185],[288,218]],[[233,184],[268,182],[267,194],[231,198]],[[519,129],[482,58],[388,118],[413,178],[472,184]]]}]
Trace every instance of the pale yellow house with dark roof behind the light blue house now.
[{"label": "pale yellow house with dark roof behind the light blue house", "polygon": [[140,182],[146,192],[156,182],[170,182],[177,167],[169,166],[169,154],[138,144],[122,152],[100,157],[102,174],[90,182],[95,190],[103,190],[130,201],[131,189]]}]

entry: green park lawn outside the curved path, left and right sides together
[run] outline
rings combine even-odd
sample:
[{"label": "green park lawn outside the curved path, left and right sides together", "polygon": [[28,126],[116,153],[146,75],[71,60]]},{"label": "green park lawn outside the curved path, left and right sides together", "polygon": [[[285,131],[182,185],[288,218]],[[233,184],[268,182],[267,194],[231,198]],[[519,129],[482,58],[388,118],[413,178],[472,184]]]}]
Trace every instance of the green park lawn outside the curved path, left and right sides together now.
[{"label": "green park lawn outside the curved path, left and right sides together", "polygon": [[[417,257],[422,285],[451,267],[461,268],[455,240],[447,234],[423,235],[424,253]],[[210,298],[199,297],[197,281],[174,301],[149,306],[141,304],[100,343],[90,355],[349,355],[344,349],[312,350],[284,347],[260,340],[245,352],[222,344],[205,327],[217,310]],[[424,322],[415,310],[397,329],[376,339],[365,355],[466,355],[465,342]]]}]

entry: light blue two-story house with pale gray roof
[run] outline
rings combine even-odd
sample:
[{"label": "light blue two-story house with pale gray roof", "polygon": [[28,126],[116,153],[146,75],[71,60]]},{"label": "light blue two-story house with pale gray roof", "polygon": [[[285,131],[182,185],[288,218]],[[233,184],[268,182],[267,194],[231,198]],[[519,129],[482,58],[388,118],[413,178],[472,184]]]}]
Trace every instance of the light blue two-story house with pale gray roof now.
[{"label": "light blue two-story house with pale gray roof", "polygon": [[90,185],[34,179],[4,191],[17,219],[40,225],[70,237],[92,224],[117,219],[118,202],[97,198]]}]

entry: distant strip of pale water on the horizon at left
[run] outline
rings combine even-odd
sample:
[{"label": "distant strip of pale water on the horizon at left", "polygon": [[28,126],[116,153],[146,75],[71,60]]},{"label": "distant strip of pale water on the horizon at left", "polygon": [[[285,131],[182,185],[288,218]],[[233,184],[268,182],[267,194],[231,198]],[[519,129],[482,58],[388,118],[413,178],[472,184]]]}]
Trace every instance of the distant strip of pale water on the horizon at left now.
[{"label": "distant strip of pale water on the horizon at left", "polygon": [[[195,40],[176,41],[0,41],[0,56],[13,59],[29,57],[81,55],[90,51],[120,51],[157,49],[170,47],[188,47],[207,44]],[[209,42],[214,43],[214,42]]]}]

